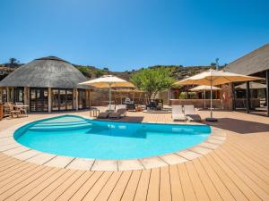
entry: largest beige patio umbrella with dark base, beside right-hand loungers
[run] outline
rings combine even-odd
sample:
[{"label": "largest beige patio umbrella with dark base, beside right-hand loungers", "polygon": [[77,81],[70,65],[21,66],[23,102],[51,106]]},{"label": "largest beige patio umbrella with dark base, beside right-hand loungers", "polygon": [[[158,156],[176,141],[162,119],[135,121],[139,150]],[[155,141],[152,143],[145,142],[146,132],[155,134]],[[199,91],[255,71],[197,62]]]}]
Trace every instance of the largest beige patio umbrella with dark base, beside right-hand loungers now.
[{"label": "largest beige patio umbrella with dark base, beside right-hand loungers", "polygon": [[213,86],[221,85],[237,81],[253,81],[253,80],[263,80],[261,78],[240,75],[237,73],[226,72],[226,71],[215,71],[209,70],[199,73],[195,76],[189,77],[185,80],[180,80],[176,82],[176,85],[207,85],[211,87],[211,101],[210,101],[210,118],[206,118],[206,121],[217,121],[213,118]]}]

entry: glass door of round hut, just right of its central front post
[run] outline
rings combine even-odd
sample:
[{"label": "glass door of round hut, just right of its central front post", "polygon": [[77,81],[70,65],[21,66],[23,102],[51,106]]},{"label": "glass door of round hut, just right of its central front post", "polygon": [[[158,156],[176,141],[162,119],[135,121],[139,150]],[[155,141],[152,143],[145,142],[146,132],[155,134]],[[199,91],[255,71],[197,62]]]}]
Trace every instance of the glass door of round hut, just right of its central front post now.
[{"label": "glass door of round hut, just right of its central front post", "polygon": [[52,111],[73,109],[73,89],[52,89]]}]

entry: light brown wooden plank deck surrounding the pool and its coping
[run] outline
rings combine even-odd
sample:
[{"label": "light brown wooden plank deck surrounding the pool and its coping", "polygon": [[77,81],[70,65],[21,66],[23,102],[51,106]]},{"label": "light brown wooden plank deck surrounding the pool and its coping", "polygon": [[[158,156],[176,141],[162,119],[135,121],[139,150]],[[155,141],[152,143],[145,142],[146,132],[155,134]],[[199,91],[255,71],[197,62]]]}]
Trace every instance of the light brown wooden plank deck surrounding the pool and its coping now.
[{"label": "light brown wooden plank deck surrounding the pool and its coping", "polygon": [[[187,163],[151,170],[73,171],[0,153],[0,200],[269,200],[269,118],[215,114],[221,119],[214,126],[228,133],[221,147]],[[130,121],[171,121],[169,114],[128,115]],[[0,121],[0,129],[38,117]]]}]

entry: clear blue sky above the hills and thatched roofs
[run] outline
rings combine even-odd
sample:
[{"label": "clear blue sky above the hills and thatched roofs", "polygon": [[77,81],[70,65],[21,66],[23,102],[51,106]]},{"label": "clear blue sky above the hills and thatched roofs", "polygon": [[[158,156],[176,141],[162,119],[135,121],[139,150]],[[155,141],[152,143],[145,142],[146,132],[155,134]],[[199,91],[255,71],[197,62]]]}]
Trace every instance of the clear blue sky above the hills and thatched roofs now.
[{"label": "clear blue sky above the hills and thatched roofs", "polygon": [[0,63],[223,64],[269,42],[268,0],[0,0],[0,9]]}]

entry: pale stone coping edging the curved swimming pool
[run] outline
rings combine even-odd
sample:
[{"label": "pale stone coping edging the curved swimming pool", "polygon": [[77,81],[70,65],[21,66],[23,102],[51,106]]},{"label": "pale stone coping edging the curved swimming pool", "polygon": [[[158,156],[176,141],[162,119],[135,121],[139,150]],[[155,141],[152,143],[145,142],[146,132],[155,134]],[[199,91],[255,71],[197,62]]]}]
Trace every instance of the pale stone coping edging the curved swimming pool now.
[{"label": "pale stone coping edging the curved swimming pool", "polygon": [[[56,116],[62,115],[66,114],[58,114]],[[77,116],[81,116],[85,119],[91,119],[85,115]],[[42,119],[48,119],[48,117],[39,118],[34,121],[39,121]],[[154,157],[145,157],[129,160],[100,160],[91,158],[69,157],[64,155],[51,155],[48,153],[30,149],[29,147],[22,146],[13,138],[13,133],[15,132],[15,130],[30,122],[32,121],[25,121],[6,130],[0,131],[0,152],[4,153],[4,155],[9,155],[16,159],[29,163],[83,171],[131,171],[152,169],[171,164],[185,163],[187,161],[194,160],[197,157],[207,155],[209,152],[212,152],[214,149],[220,147],[226,139],[225,130],[211,127],[212,133],[206,140],[204,140],[204,142],[195,145],[195,147],[190,147],[182,151],[174,152],[167,155],[158,155]],[[178,123],[176,122],[142,122],[178,125]],[[184,124],[201,125],[201,123],[192,122]]]}]

